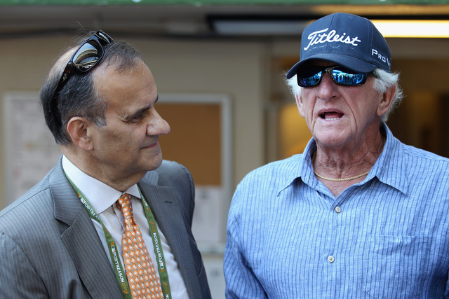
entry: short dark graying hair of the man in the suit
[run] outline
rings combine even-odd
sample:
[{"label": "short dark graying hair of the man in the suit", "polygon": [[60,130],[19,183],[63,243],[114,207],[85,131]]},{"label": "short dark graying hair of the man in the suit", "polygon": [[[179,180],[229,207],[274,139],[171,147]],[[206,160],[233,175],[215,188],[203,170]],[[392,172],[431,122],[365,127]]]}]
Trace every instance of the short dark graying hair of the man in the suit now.
[{"label": "short dark graying hair of the man in the suit", "polygon": [[[83,41],[86,39],[83,39]],[[78,48],[78,46],[74,48]],[[138,50],[125,41],[116,41],[105,46],[105,54],[100,64],[106,64],[106,67],[114,66],[116,71],[125,71],[137,67],[140,61],[143,61],[143,59]],[[52,67],[39,94],[46,124],[56,143],[61,145],[72,143],[69,134],[67,134],[67,123],[71,118],[81,116],[91,120],[95,125],[104,126],[106,125],[105,111],[108,107],[107,102],[103,102],[98,97],[93,85],[92,71],[88,71],[84,74],[76,73],[69,78],[64,88],[56,95],[57,111],[51,111],[53,93],[66,64],[67,62],[64,64],[57,63]]]}]

